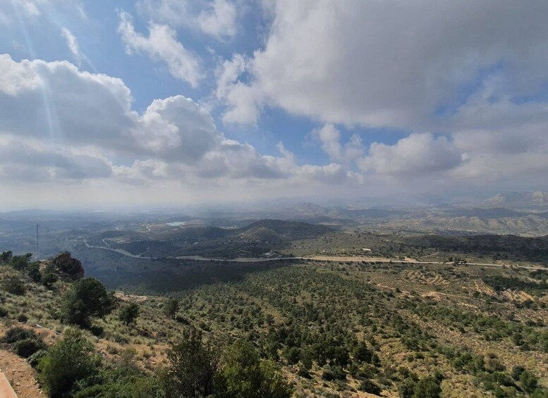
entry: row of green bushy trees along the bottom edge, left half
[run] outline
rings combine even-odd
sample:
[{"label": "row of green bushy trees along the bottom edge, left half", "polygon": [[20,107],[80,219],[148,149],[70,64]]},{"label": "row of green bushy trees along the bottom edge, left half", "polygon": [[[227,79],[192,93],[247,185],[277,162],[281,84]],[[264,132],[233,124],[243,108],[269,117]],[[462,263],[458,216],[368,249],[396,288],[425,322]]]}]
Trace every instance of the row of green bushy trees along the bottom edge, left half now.
[{"label": "row of green bushy trees along the bottom edge, left half", "polygon": [[[197,330],[186,330],[171,347],[169,365],[145,374],[135,366],[135,351],[106,361],[80,330],[67,328],[46,348],[34,332],[8,330],[6,343],[28,358],[49,397],[63,398],[288,398],[291,387],[272,361],[262,360],[249,342],[236,340],[220,355],[202,343]],[[29,342],[34,345],[29,346]]]}]

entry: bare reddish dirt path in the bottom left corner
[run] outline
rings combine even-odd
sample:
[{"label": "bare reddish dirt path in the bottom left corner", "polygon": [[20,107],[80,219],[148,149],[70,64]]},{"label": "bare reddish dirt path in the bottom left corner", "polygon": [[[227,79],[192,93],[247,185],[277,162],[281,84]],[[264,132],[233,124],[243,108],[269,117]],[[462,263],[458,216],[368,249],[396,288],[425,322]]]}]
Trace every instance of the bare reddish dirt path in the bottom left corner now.
[{"label": "bare reddish dirt path in the bottom left corner", "polygon": [[39,388],[34,369],[13,352],[0,350],[0,371],[6,375],[18,398],[47,397]]}]

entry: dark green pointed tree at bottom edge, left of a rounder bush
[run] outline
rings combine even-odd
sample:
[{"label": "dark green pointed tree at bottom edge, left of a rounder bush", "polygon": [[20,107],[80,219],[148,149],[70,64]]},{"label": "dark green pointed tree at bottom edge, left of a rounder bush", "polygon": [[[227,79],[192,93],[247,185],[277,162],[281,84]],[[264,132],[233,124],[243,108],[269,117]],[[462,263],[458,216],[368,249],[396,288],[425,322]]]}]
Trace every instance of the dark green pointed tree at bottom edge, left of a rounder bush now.
[{"label": "dark green pointed tree at bottom edge, left of a rounder bush", "polygon": [[199,330],[185,330],[168,354],[168,397],[207,397],[214,392],[217,359],[202,345]]}]

